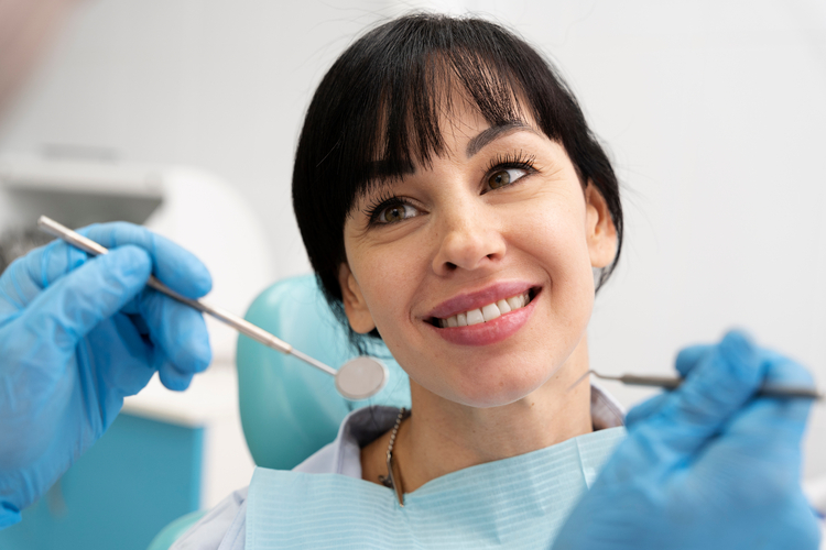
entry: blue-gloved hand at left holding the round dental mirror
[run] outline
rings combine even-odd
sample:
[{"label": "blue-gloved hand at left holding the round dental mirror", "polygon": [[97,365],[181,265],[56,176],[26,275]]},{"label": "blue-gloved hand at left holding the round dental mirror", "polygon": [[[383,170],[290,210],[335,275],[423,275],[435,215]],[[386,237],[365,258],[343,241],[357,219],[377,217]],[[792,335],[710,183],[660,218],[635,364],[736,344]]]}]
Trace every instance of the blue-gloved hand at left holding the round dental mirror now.
[{"label": "blue-gloved hand at left holding the round dental mirror", "polygon": [[189,298],[209,292],[194,255],[129,223],[80,233],[109,254],[89,258],[55,241],[0,277],[0,528],[20,520],[155,371],[184,389],[211,360],[200,314],[144,289],[154,273]]}]

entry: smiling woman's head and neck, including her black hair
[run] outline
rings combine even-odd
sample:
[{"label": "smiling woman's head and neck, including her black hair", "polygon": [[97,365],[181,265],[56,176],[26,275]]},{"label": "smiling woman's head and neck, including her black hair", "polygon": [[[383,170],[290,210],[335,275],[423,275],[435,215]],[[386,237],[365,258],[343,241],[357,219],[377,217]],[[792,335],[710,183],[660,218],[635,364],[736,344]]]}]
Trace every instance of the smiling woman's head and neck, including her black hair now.
[{"label": "smiling woman's head and neck, including her black hair", "polygon": [[[405,491],[591,431],[588,385],[565,391],[588,370],[619,189],[530,47],[430,15],[368,33],[313,99],[293,197],[328,300],[411,376]],[[365,480],[387,474],[389,438],[363,450]]]}]

